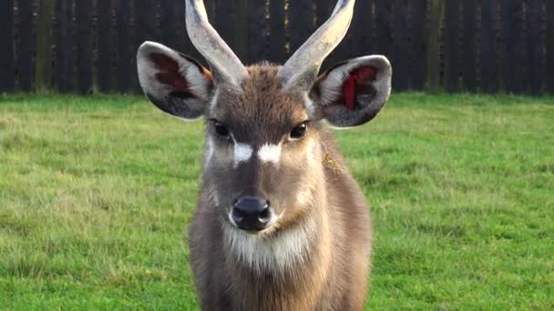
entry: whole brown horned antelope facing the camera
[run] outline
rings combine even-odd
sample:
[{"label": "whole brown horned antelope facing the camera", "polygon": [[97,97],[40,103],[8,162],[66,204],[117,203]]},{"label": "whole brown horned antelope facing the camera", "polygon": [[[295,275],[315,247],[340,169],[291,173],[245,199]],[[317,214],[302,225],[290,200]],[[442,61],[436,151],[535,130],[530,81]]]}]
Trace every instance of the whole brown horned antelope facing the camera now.
[{"label": "whole brown horned antelope facing the camera", "polygon": [[201,0],[186,26],[210,70],[153,42],[140,45],[139,82],[159,109],[205,119],[190,265],[203,310],[361,310],[372,227],[364,193],[329,127],[363,125],[389,98],[383,55],[334,65],[354,0],[285,62],[245,66],[210,25]]}]

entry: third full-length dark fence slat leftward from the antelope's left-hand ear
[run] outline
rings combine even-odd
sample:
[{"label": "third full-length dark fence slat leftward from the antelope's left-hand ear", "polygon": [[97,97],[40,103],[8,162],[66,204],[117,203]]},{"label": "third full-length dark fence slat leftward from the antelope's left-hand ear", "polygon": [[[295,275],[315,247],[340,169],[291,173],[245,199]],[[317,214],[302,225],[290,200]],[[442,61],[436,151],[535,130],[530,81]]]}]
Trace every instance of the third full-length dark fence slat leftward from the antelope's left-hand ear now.
[{"label": "third full-length dark fence slat leftward from the antelope's left-hand ear", "polygon": [[92,92],[92,0],[77,0],[77,91]]}]

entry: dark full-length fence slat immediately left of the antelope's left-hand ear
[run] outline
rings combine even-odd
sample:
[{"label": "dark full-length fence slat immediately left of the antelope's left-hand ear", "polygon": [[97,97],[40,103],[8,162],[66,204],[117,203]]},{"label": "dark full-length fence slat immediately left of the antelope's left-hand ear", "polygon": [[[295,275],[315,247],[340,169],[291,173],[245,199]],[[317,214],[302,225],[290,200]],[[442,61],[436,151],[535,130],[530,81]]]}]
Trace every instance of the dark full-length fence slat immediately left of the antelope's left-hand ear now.
[{"label": "dark full-length fence slat immediately left of the antelope's left-hand ear", "polygon": [[131,0],[118,0],[116,5],[116,89],[119,93],[127,93],[130,88],[131,68],[131,30],[130,30]]}]

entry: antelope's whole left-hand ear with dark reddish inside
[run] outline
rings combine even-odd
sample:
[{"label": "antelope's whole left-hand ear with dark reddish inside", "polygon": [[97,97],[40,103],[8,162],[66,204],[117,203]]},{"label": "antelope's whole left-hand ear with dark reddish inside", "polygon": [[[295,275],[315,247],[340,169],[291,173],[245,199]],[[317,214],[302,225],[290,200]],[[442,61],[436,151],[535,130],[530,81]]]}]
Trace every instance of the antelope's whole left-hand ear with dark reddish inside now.
[{"label": "antelope's whole left-hand ear with dark reddish inside", "polygon": [[184,119],[204,114],[213,83],[210,71],[165,45],[145,42],[137,52],[139,82],[162,111]]}]

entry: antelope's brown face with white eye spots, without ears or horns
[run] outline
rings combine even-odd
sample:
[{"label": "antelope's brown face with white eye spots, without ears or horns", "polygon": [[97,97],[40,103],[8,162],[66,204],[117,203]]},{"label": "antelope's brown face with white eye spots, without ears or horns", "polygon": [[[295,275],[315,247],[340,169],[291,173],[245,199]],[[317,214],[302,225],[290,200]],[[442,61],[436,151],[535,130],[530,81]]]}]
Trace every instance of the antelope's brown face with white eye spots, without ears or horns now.
[{"label": "antelope's brown face with white eye spots, without ears or horns", "polygon": [[249,72],[240,92],[222,87],[210,102],[204,180],[232,226],[264,231],[310,208],[318,178],[310,172],[321,171],[321,124],[301,90],[281,87],[276,67]]}]

